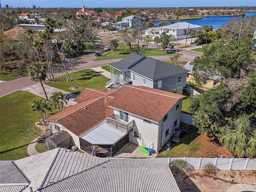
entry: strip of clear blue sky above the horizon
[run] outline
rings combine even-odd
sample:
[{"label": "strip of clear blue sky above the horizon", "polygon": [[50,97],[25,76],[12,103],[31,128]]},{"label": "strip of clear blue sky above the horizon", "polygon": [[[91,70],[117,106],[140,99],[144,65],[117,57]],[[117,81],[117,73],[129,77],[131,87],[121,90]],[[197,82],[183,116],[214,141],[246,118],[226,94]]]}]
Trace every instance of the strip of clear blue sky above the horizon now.
[{"label": "strip of clear blue sky above the horizon", "polygon": [[1,0],[5,5],[32,8],[89,8],[101,7],[198,7],[198,6],[256,6],[256,0]]}]

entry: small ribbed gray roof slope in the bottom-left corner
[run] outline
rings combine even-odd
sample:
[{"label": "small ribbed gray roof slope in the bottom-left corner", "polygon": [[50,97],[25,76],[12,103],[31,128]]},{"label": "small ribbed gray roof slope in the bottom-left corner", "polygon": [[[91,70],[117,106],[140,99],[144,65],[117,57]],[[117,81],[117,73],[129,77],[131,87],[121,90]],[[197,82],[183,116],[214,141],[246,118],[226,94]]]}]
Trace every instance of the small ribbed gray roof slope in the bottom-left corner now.
[{"label": "small ribbed gray roof slope in the bottom-left corner", "polygon": [[0,184],[29,184],[26,177],[12,161],[0,161]]}]

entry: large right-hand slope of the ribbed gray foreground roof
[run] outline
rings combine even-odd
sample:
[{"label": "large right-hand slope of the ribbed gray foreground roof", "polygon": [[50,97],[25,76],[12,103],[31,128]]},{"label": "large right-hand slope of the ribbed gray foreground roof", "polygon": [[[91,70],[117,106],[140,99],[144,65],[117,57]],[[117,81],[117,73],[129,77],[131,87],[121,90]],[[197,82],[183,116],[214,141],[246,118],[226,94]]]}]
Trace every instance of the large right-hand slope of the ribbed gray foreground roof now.
[{"label": "large right-hand slope of the ribbed gray foreground roof", "polygon": [[110,159],[41,191],[180,192],[163,159]]}]

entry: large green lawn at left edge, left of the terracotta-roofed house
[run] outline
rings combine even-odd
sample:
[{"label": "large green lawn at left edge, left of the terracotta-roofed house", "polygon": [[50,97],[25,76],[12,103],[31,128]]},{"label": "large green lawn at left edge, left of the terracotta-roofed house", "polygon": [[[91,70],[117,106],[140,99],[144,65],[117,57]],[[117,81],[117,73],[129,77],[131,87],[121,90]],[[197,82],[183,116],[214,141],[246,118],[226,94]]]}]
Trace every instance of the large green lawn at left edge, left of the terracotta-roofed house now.
[{"label": "large green lawn at left edge, left of the terracotta-roofed house", "polygon": [[[0,160],[17,160],[28,156],[28,144],[35,138],[25,137],[20,130],[40,119],[39,114],[30,110],[33,101],[38,99],[42,98],[24,91],[0,98]],[[52,109],[54,111],[53,106]]]}]

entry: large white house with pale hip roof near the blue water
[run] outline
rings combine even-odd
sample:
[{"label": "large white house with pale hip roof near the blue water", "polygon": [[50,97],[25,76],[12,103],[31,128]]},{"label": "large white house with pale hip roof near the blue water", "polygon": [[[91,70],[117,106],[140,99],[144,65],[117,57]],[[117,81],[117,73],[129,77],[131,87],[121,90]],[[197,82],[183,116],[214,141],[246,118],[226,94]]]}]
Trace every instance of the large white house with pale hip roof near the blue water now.
[{"label": "large white house with pale hip roof near the blue water", "polygon": [[176,39],[176,37],[178,39],[186,39],[186,38],[190,38],[190,36],[189,35],[187,36],[187,34],[185,33],[185,30],[188,33],[190,32],[190,30],[194,30],[194,32],[196,33],[200,31],[201,28],[202,26],[199,26],[199,25],[194,25],[187,22],[178,22],[168,26],[160,27],[159,35],[161,36],[161,34],[165,32],[167,35],[171,36],[170,40],[174,40]]}]

